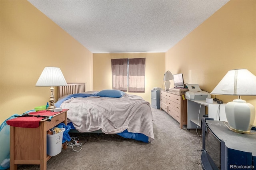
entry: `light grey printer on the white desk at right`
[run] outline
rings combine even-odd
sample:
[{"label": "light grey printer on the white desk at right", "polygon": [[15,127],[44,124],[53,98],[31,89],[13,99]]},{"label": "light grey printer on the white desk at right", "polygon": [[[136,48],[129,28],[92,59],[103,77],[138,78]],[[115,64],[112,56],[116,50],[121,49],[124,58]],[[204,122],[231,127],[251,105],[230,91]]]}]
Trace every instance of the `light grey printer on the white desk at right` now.
[{"label": "light grey printer on the white desk at right", "polygon": [[202,91],[198,84],[187,84],[188,90],[185,93],[185,98],[188,100],[206,100],[211,98],[210,93]]}]

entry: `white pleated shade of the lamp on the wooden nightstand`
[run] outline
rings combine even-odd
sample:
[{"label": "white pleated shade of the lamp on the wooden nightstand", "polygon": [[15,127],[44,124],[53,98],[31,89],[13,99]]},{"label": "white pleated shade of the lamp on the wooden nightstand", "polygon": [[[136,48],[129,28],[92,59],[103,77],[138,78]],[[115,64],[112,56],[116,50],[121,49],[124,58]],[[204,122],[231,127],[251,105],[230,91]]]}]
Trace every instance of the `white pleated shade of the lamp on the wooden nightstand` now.
[{"label": "white pleated shade of the lamp on the wooden nightstand", "polygon": [[58,67],[45,67],[36,86],[66,86],[67,82]]}]

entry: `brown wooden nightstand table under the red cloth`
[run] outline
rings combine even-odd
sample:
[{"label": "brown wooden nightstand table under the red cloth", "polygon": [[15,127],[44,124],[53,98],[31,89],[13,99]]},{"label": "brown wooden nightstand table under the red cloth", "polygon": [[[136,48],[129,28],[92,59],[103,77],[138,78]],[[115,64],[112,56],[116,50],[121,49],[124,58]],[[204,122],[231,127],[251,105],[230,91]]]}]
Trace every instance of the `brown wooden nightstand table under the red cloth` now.
[{"label": "brown wooden nightstand table under the red cloth", "polygon": [[40,121],[38,128],[10,126],[10,170],[16,170],[18,164],[40,164],[40,170],[46,170],[46,163],[51,158],[47,155],[47,130],[60,123],[67,125],[67,111]]}]

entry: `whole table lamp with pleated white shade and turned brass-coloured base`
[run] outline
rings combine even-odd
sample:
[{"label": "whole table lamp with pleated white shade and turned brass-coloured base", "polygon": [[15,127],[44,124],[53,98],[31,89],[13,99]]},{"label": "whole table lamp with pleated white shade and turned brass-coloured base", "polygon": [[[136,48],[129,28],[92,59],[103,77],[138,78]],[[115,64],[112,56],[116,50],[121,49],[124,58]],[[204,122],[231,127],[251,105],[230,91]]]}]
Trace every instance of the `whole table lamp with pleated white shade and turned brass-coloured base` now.
[{"label": "whole table lamp with pleated white shade and turned brass-coloured base", "polygon": [[67,82],[58,67],[45,67],[42,71],[38,81],[36,82],[36,86],[46,86],[51,87],[51,95],[49,99],[49,107],[46,110],[54,111],[54,88],[53,86],[67,86]]}]

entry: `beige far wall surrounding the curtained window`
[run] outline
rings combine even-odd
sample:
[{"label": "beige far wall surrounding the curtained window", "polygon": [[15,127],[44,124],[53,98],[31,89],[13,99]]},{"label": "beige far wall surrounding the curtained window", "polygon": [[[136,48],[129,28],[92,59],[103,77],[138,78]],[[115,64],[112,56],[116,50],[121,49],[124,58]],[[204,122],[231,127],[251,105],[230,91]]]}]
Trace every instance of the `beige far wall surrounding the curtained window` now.
[{"label": "beige far wall surrounding the curtained window", "polygon": [[165,53],[102,53],[93,54],[94,90],[112,89],[111,59],[146,58],[145,93],[129,93],[139,95],[151,102],[151,89],[161,87],[165,72]]}]

